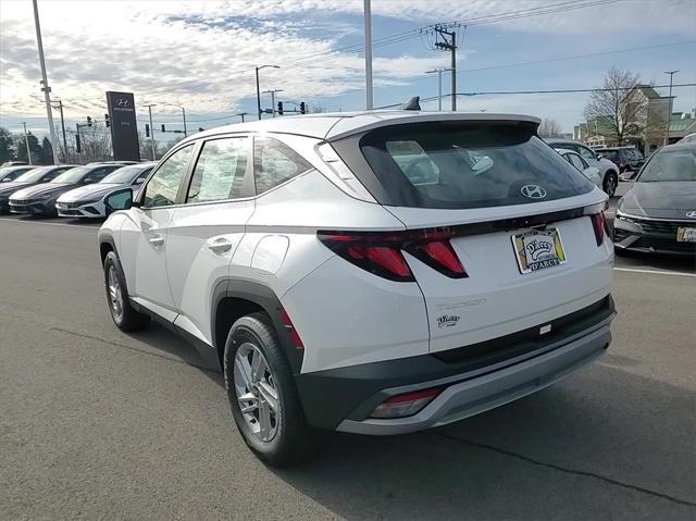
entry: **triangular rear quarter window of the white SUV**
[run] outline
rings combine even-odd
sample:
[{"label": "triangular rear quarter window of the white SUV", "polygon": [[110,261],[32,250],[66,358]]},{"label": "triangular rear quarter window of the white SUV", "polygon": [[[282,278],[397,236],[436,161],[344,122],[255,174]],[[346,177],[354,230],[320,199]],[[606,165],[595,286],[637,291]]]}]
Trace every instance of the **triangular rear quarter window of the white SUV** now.
[{"label": "triangular rear quarter window of the white SUV", "polygon": [[287,145],[270,137],[253,140],[253,178],[257,194],[311,170],[312,165],[299,157]]}]

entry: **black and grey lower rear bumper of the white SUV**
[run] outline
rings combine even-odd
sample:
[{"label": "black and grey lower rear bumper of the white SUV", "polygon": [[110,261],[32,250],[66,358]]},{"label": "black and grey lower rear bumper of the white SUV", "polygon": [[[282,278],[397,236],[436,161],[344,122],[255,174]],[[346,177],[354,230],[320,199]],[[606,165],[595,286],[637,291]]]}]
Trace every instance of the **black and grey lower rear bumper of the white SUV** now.
[{"label": "black and grey lower rear bumper of the white SUV", "polygon": [[[444,425],[543,389],[604,353],[611,343],[613,300],[582,331],[568,330],[537,349],[517,350],[511,358],[475,363],[475,358],[447,362],[426,355],[366,363],[297,376],[310,424],[343,432],[391,435]],[[487,355],[488,357],[490,353]],[[459,358],[459,357],[458,357]],[[385,399],[433,387],[444,390],[414,415],[370,418]]]}]

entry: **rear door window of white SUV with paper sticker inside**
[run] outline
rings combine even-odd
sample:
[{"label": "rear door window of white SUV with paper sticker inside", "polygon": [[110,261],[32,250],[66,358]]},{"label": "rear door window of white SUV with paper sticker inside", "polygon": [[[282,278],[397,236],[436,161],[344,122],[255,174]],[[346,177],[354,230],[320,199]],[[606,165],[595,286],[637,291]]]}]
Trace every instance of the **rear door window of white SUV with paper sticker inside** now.
[{"label": "rear door window of white SUV with paper sticker inside", "polygon": [[244,137],[206,141],[191,176],[186,202],[239,197],[247,170],[247,144]]}]

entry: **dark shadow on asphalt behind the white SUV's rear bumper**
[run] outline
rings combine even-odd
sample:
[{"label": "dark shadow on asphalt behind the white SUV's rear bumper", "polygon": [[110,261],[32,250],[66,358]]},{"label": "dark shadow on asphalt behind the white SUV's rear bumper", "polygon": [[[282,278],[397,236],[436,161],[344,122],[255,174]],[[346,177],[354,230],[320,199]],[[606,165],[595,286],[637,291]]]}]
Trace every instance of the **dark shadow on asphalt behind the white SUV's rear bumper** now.
[{"label": "dark shadow on asphalt behind the white SUV's rear bumper", "polygon": [[694,405],[595,364],[435,431],[336,435],[313,463],[275,472],[347,519],[694,519]]}]

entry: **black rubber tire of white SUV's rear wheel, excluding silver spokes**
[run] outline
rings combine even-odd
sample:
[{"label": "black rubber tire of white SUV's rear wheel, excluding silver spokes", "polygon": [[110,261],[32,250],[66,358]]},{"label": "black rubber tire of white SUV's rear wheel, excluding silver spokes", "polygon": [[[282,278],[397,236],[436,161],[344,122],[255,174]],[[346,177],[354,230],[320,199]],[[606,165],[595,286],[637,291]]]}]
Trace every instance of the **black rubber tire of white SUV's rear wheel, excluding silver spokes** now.
[{"label": "black rubber tire of white SUV's rear wheel, excluding silver spokes", "polygon": [[[252,348],[257,348],[263,355],[263,361],[269,369],[266,380],[272,382],[277,395],[279,414],[272,412],[275,432],[269,441],[261,439],[262,434],[254,433],[252,430],[252,425],[261,425],[263,393],[259,388],[256,389],[258,406],[247,417],[243,413],[237,399],[235,386],[243,386],[243,388],[245,386],[243,377],[239,381],[235,380],[235,358],[240,348],[245,349],[240,352],[240,359]],[[290,365],[265,313],[252,313],[233,324],[225,343],[223,370],[227,397],[237,429],[247,446],[260,460],[272,467],[287,467],[311,458],[321,448],[324,433],[307,424]],[[271,411],[273,411],[272,408]],[[254,417],[258,418],[258,424],[253,424]]]}]

